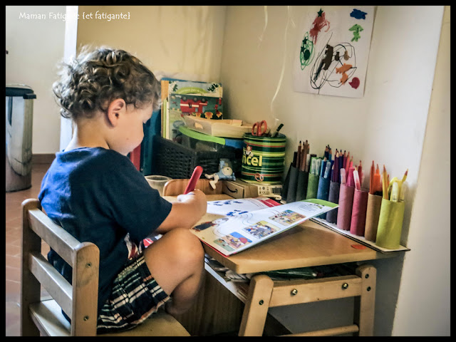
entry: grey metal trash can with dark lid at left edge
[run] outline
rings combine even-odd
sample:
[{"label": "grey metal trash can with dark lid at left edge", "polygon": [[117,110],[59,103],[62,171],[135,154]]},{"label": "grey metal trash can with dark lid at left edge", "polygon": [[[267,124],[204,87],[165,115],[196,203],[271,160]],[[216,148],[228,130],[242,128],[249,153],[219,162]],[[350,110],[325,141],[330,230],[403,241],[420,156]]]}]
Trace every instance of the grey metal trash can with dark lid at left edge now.
[{"label": "grey metal trash can with dark lid at left edge", "polygon": [[6,85],[6,192],[31,187],[34,98],[29,86]]}]

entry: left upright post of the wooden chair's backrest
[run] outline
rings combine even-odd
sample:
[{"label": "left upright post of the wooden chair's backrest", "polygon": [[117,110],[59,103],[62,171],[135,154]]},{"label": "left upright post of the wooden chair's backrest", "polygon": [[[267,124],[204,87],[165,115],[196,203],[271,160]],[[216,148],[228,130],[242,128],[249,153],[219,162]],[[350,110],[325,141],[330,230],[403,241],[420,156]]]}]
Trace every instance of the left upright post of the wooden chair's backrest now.
[{"label": "left upright post of the wooden chair's backrest", "polygon": [[26,199],[22,203],[22,247],[21,247],[21,336],[40,336],[33,323],[28,306],[40,301],[41,285],[29,270],[28,256],[31,252],[41,252],[41,239],[28,226],[28,210],[39,206],[38,199]]}]

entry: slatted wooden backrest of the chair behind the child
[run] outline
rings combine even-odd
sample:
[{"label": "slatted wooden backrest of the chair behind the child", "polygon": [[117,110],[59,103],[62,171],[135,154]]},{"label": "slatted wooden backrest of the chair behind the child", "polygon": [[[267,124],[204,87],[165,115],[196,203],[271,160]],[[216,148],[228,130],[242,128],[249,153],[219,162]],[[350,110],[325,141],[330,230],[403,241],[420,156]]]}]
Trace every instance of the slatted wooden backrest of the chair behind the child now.
[{"label": "slatted wooden backrest of the chair behind the child", "polygon": [[[21,335],[50,333],[36,319],[43,312],[50,313],[41,301],[41,284],[71,318],[68,335],[95,336],[100,260],[98,247],[90,242],[79,242],[53,223],[41,211],[38,199],[26,199],[22,203],[22,214]],[[73,268],[72,284],[43,257],[41,239]]]}]

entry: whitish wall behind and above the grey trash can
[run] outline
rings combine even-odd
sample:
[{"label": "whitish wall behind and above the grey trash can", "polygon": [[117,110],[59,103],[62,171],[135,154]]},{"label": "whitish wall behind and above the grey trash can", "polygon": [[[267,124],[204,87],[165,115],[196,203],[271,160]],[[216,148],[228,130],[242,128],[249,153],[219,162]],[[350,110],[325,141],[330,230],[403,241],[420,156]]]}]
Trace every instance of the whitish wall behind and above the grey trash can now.
[{"label": "whitish wall behind and above the grey trash can", "polygon": [[[32,152],[54,153],[59,147],[60,113],[51,86],[56,63],[63,58],[65,21],[49,13],[65,14],[65,6],[6,6],[6,84],[26,84],[33,100]],[[46,19],[21,19],[20,14]]]}]

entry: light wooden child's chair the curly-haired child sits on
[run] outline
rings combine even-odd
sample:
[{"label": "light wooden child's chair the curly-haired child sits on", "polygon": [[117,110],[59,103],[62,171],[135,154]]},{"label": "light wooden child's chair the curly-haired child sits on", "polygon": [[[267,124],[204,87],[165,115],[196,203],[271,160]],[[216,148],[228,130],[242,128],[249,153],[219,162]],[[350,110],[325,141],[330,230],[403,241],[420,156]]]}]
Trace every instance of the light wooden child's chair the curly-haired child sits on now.
[{"label": "light wooden child's chair the curly-haired child sits on", "polygon": [[[21,336],[96,336],[100,251],[79,242],[41,211],[38,199],[22,202]],[[73,267],[73,284],[41,254],[41,239]],[[41,298],[41,286],[51,298]],[[61,309],[71,318],[63,317]],[[190,336],[160,311],[138,327],[100,336]]]}]

